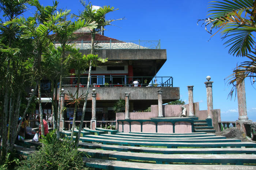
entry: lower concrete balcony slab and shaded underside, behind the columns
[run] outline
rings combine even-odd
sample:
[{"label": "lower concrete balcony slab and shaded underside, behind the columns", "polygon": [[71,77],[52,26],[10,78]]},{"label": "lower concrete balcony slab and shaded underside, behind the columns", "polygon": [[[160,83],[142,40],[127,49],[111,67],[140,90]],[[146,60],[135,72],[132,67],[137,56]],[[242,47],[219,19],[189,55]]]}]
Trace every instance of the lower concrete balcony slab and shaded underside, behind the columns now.
[{"label": "lower concrete balcony slab and shaded underside, behind the columns", "polygon": [[[96,89],[95,93],[97,93],[97,107],[113,106],[118,100],[125,100],[125,92],[130,93],[129,101],[132,103],[133,110],[145,110],[152,104],[158,104],[158,90],[163,90],[163,103],[180,99],[179,87],[90,87],[87,107],[91,107],[93,88]],[[65,92],[67,91],[74,95],[76,87],[65,87]],[[80,96],[85,91],[85,87],[79,88],[78,95]],[[57,99],[59,99],[59,93]],[[65,95],[65,102],[68,101],[71,101],[71,99]]]}]

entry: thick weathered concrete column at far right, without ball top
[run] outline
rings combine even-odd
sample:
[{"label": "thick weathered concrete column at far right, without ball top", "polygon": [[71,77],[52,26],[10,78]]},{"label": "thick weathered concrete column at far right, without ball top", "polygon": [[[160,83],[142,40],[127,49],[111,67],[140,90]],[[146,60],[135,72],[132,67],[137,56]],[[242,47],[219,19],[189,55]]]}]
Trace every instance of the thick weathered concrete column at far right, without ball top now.
[{"label": "thick weathered concrete column at far right, without ball top", "polygon": [[244,80],[237,85],[238,120],[248,120]]}]

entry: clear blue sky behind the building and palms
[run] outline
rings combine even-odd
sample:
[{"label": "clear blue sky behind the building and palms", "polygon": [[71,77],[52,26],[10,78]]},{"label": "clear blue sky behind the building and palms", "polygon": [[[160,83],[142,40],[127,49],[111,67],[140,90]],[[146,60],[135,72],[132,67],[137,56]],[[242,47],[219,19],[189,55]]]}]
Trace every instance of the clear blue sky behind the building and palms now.
[{"label": "clear blue sky behind the building and palms", "polygon": [[[181,99],[188,103],[187,86],[194,86],[194,102],[200,110],[207,110],[206,76],[213,81],[213,107],[221,109],[222,121],[238,119],[237,99],[227,99],[231,87],[224,79],[232,74],[237,64],[246,58],[228,54],[228,48],[217,34],[210,39],[204,26],[197,19],[207,15],[208,0],[93,0],[97,6],[110,5],[119,10],[106,15],[107,19],[125,18],[116,21],[116,26],[106,27],[105,36],[118,40],[161,40],[161,48],[167,50],[167,61],[157,76],[172,76],[174,87],[180,87]],[[43,5],[52,5],[52,0],[40,0]],[[78,14],[83,6],[79,0],[60,0],[59,8],[71,9]],[[28,14],[29,12],[27,12]],[[208,41],[210,39],[210,41]],[[247,113],[256,121],[255,87],[250,79],[245,80]]]}]

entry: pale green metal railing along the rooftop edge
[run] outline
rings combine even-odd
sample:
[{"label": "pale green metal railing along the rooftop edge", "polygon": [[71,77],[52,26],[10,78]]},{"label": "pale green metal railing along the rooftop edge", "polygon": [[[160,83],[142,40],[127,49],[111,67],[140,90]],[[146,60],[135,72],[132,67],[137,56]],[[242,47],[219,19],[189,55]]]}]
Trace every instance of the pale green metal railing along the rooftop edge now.
[{"label": "pale green metal railing along the rooftop edge", "polygon": [[[59,42],[54,42],[55,46],[60,46]],[[91,49],[91,41],[70,41],[80,50]],[[98,49],[161,49],[160,40],[105,40],[95,41]]]}]

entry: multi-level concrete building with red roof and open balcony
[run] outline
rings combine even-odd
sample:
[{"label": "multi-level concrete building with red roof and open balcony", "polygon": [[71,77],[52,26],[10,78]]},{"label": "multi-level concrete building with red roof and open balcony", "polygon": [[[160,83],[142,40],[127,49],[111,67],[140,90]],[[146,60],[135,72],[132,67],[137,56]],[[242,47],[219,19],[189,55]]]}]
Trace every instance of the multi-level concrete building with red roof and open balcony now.
[{"label": "multi-level concrete building with red roof and open balcony", "polygon": [[[75,43],[76,47],[81,49],[82,55],[90,54],[90,34],[83,30],[75,34],[78,38],[71,43]],[[91,71],[91,87],[89,89],[84,120],[91,119],[91,93],[93,88],[96,89],[95,93],[97,93],[97,120],[114,120],[116,115],[113,113],[112,107],[118,100],[125,99],[125,92],[130,93],[130,111],[145,110],[151,104],[157,104],[158,90],[163,90],[163,103],[180,99],[179,88],[173,87],[172,77],[156,76],[167,60],[166,50],[160,49],[160,40],[121,41],[96,34],[95,43],[101,47],[97,50],[96,54],[103,59],[108,58],[108,62],[94,67]],[[148,46],[148,44],[150,45]],[[75,73],[75,69],[72,69],[70,72]],[[88,72],[84,72],[81,76],[79,95],[85,92],[87,80]],[[134,80],[140,82],[138,87],[133,87],[133,85],[129,84]],[[64,93],[69,91],[75,94],[75,76],[65,78],[63,82]],[[72,113],[74,110],[74,106],[67,105],[70,101],[71,99],[65,95],[68,113]],[[82,105],[79,106],[77,120],[79,120],[81,113]],[[65,115],[66,120],[68,117],[69,114]]]}]

